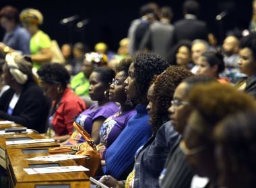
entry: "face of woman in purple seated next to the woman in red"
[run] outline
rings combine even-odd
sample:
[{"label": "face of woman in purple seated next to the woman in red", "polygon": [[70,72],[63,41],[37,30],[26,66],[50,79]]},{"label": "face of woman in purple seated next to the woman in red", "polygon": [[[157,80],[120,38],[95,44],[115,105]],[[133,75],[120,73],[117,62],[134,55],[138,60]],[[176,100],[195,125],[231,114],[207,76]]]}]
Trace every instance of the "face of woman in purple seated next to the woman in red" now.
[{"label": "face of woman in purple seated next to the woman in red", "polygon": [[100,73],[92,72],[89,78],[89,95],[93,101],[104,99],[104,92],[108,88],[100,79]]}]

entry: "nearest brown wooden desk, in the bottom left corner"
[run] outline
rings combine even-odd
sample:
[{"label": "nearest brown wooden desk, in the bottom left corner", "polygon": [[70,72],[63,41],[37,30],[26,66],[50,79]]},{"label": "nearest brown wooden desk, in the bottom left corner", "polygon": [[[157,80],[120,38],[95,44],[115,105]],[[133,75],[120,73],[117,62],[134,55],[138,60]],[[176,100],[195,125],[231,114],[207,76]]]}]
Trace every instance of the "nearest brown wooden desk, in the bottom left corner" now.
[{"label": "nearest brown wooden desk, in the bottom left corner", "polygon": [[[33,150],[36,149],[42,148],[33,148]],[[77,165],[74,160],[62,160],[57,162],[25,160],[25,158],[44,155],[46,155],[46,153],[24,154],[24,148],[7,149],[7,160],[9,161],[7,175],[9,177],[10,187],[34,188],[35,185],[69,185],[70,188],[90,187],[90,181],[84,172],[28,175],[28,173],[23,170],[24,168],[30,168],[30,164],[57,163],[59,166]]]}]

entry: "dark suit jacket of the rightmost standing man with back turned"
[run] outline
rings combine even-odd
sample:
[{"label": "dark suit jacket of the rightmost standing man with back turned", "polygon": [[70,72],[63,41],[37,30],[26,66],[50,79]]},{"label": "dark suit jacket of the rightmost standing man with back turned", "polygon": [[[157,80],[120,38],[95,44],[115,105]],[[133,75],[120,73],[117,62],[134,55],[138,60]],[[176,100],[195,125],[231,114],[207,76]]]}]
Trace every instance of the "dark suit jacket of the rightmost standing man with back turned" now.
[{"label": "dark suit jacket of the rightmost standing man with back turned", "polygon": [[174,42],[180,40],[202,39],[207,41],[208,30],[204,21],[198,19],[181,19],[174,23]]}]

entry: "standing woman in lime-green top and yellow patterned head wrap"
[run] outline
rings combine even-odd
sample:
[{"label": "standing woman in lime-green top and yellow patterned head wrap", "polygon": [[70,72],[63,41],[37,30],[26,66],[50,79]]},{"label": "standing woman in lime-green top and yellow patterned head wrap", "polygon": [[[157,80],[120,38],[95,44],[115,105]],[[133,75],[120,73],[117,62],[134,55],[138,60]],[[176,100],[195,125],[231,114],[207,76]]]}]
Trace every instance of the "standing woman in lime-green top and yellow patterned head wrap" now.
[{"label": "standing woman in lime-green top and yellow patterned head wrap", "polygon": [[42,24],[42,13],[36,9],[24,9],[20,13],[22,25],[30,33],[30,56],[33,68],[38,70],[46,62],[50,62],[53,54],[51,52],[51,38],[38,28]]}]

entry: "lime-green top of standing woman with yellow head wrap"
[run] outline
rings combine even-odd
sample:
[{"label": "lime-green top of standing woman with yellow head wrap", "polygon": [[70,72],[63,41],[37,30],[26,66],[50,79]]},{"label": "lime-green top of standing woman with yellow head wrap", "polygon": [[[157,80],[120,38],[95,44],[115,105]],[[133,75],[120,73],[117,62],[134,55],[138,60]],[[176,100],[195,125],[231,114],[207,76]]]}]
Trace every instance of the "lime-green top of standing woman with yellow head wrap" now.
[{"label": "lime-green top of standing woman with yellow head wrap", "polygon": [[[51,48],[51,38],[42,30],[38,30],[34,36],[30,39],[30,53],[39,54],[40,50],[43,48]],[[33,67],[40,68],[39,63],[34,62]]]}]

